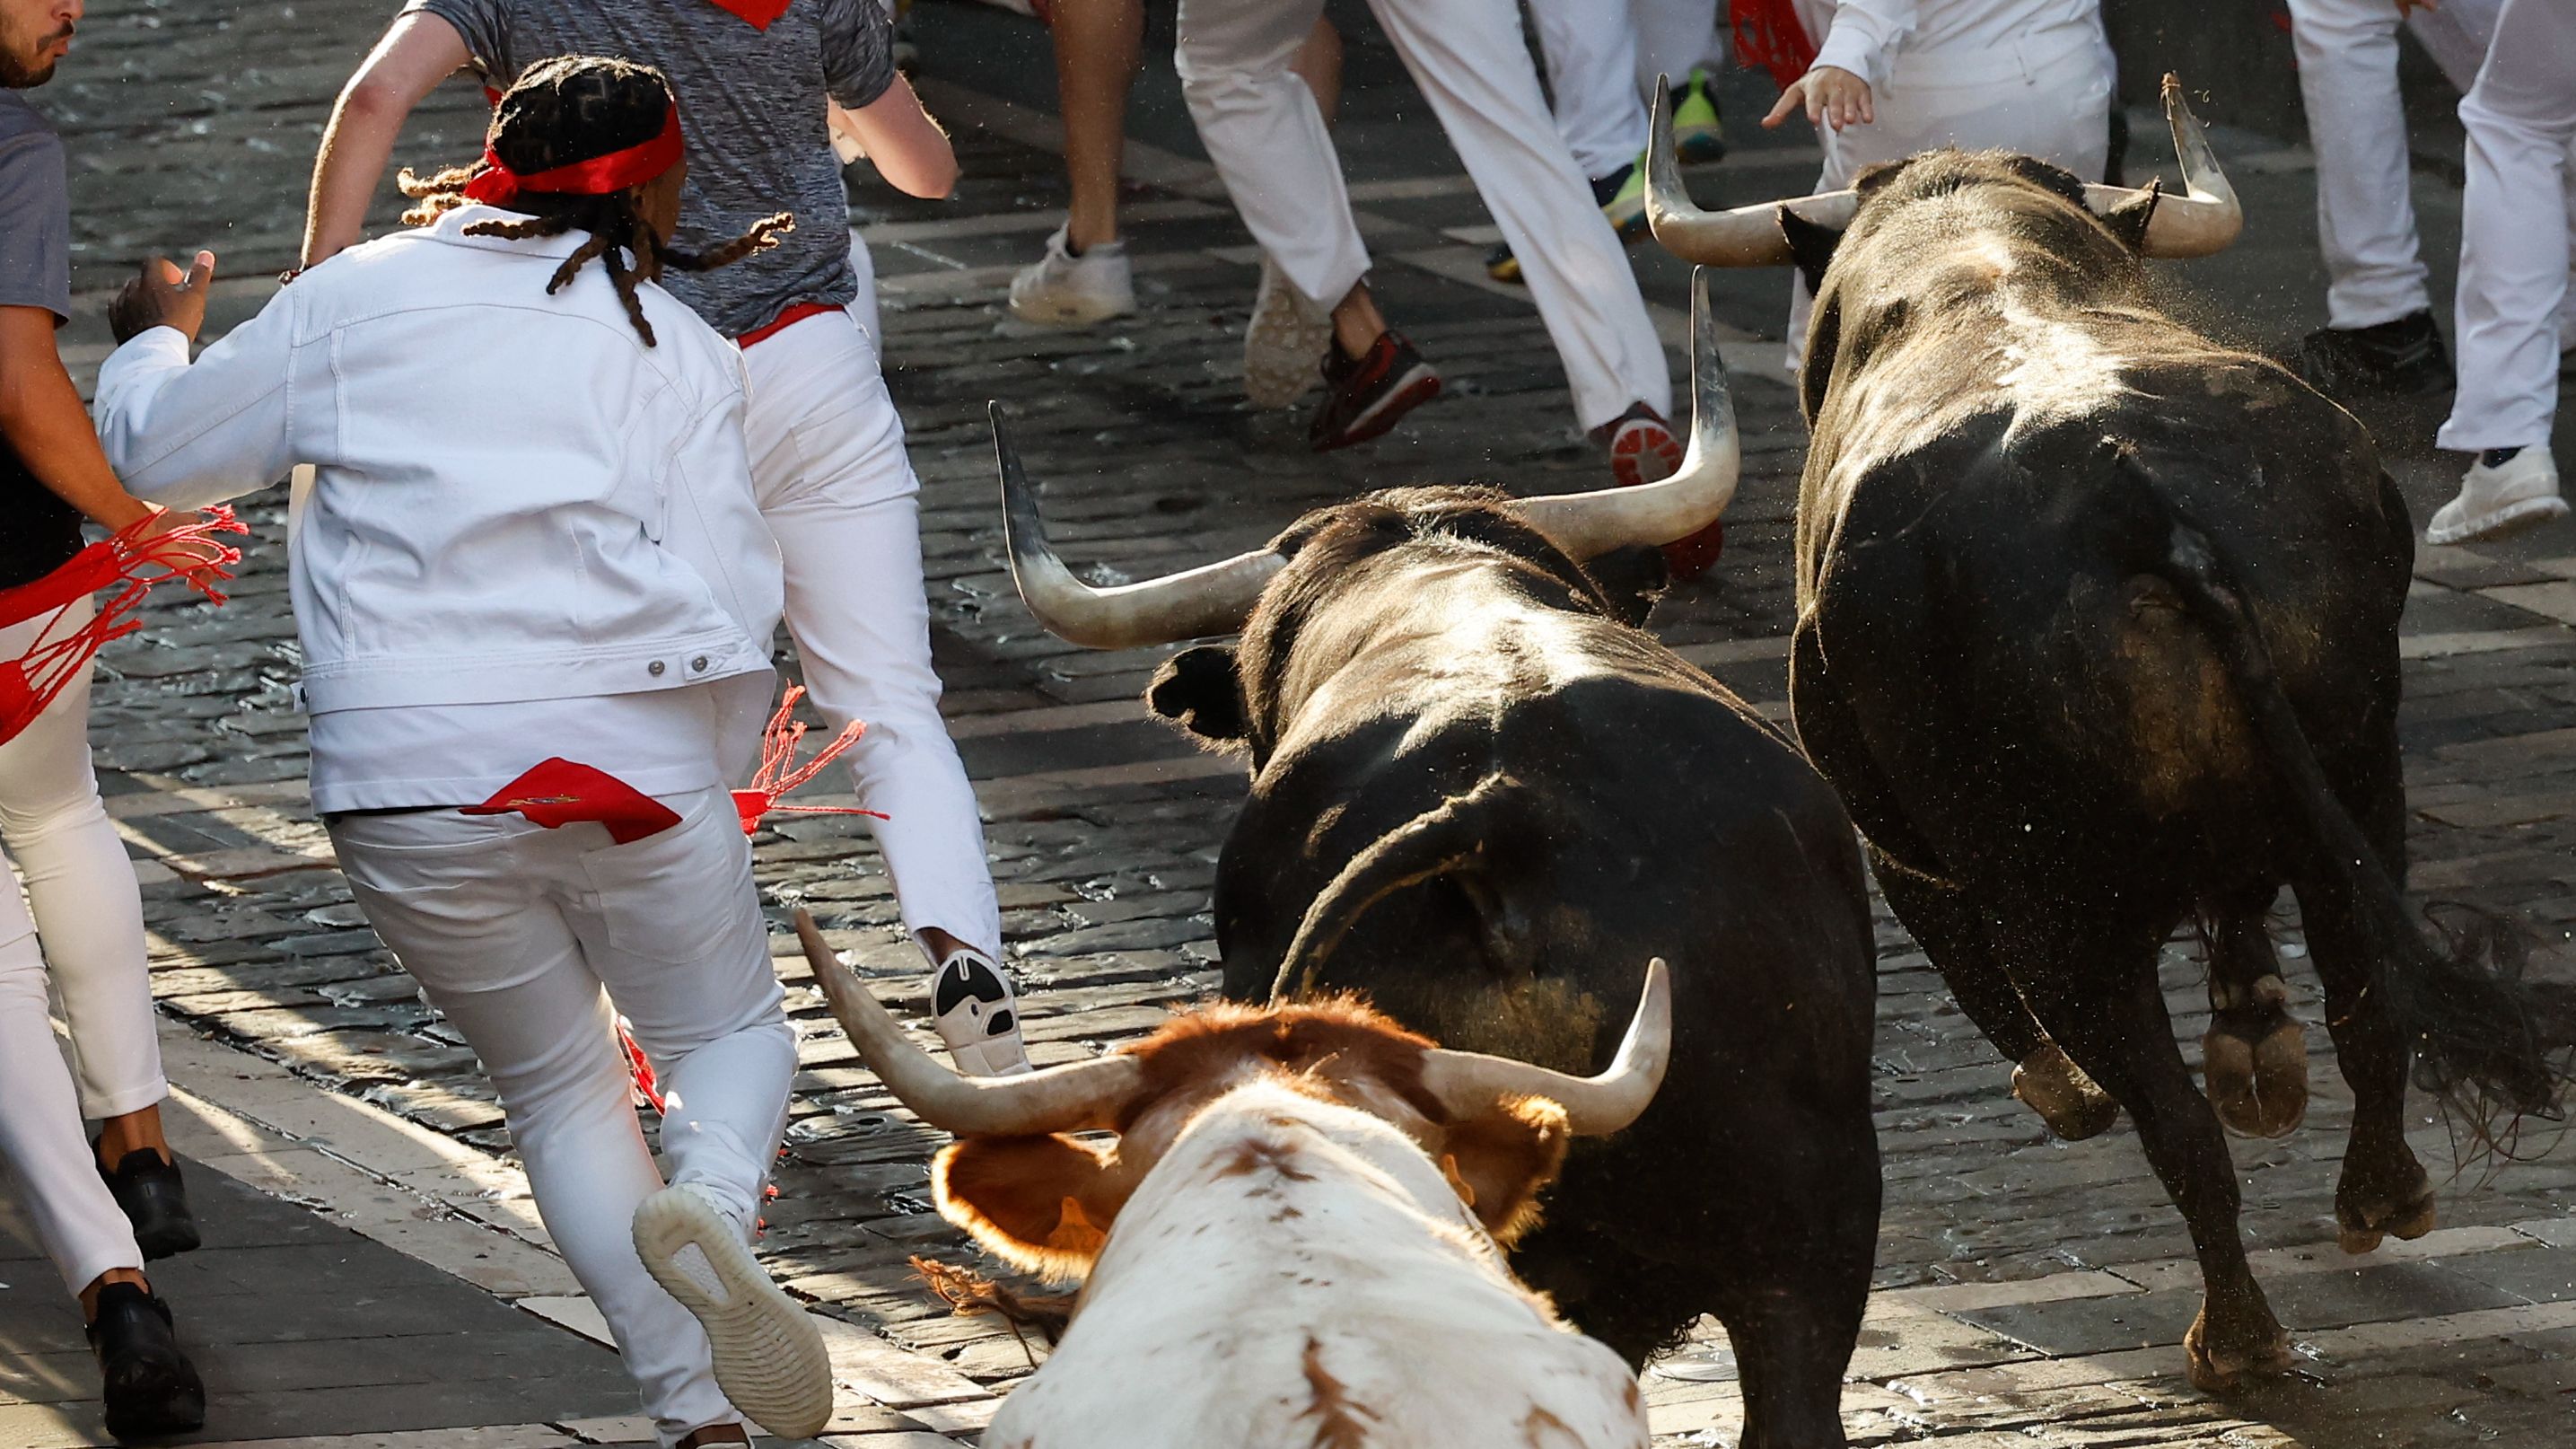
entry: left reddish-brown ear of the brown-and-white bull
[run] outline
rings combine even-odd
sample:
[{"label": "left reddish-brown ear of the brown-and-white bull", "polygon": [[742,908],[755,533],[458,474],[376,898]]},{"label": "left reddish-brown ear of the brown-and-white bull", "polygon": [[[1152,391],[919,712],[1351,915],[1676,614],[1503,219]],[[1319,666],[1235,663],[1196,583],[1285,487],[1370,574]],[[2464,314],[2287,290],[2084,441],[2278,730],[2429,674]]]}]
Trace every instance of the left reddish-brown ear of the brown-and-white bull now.
[{"label": "left reddish-brown ear of the brown-and-white bull", "polygon": [[1054,1281],[1082,1279],[1126,1191],[1115,1147],[1072,1137],[969,1137],[930,1171],[940,1217],[997,1258]]}]

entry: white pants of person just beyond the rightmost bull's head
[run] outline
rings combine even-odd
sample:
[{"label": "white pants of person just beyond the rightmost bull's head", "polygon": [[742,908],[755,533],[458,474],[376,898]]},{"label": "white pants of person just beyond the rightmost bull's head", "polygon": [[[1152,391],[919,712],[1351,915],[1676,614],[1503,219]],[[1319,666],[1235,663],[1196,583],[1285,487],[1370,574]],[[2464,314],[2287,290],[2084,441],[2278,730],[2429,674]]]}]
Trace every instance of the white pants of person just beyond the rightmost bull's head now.
[{"label": "white pants of person just beyond the rightmost bull's head", "polygon": [[[2102,26],[2058,26],[2004,52],[1904,52],[1883,95],[1873,95],[1878,121],[1824,126],[1824,173],[1816,191],[1842,191],[1862,168],[1914,152],[2009,150],[2056,162],[2081,180],[2102,180],[2110,152],[2112,103],[2110,46]],[[1806,320],[1814,297],[1806,278],[1790,281],[1788,371],[1806,356]]]}]

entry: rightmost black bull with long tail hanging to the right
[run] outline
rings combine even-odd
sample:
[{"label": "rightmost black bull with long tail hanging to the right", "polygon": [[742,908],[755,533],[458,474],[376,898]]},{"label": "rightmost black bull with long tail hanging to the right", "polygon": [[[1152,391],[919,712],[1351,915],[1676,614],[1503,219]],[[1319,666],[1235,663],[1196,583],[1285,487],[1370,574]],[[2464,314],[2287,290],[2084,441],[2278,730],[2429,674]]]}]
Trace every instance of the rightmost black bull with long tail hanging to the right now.
[{"label": "rightmost black bull with long tail hanging to the right", "polygon": [[[2017,1091],[2066,1134],[2110,1122],[2099,1088],[2138,1122],[2205,1279],[2192,1379],[2223,1387],[2287,1354],[2221,1134],[2306,1104],[2262,926],[2282,884],[2357,1098],[2349,1250],[2434,1220],[2414,1047],[2514,1109],[2555,1080],[2532,1000],[2432,951],[2398,897],[2403,500],[2347,413],[2151,302],[2143,222],[1960,152],[1868,175],[1839,237],[1785,222],[1821,271],[1790,704]],[[2218,1114],[2156,985],[2192,913]]]}]

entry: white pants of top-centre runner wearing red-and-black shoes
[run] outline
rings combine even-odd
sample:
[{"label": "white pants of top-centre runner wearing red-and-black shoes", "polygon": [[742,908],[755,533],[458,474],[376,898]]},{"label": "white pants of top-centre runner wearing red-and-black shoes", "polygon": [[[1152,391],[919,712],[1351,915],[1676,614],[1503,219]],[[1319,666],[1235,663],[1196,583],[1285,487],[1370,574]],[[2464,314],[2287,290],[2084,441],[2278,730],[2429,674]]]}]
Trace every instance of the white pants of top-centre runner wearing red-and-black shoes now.
[{"label": "white pants of top-centre runner wearing red-and-black shoes", "polygon": [[[1180,0],[1182,95],[1244,227],[1309,299],[1368,273],[1342,165],[1314,93],[1288,70],[1324,0]],[[1520,258],[1584,428],[1633,402],[1672,413],[1672,374],[1618,235],[1574,165],[1515,0],[1370,0]],[[793,606],[791,606],[793,611]]]}]

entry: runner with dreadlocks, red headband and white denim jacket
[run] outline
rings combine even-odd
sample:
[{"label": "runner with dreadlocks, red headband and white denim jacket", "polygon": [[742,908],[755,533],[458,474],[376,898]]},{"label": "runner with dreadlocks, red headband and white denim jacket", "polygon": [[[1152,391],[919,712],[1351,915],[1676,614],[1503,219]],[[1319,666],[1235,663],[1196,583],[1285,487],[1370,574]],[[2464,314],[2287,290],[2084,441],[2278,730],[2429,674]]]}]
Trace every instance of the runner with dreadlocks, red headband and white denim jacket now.
[{"label": "runner with dreadlocks, red headband and white denim jacket", "polygon": [[[479,165],[404,175],[417,229],[307,271],[193,366],[214,258],[147,263],[98,410],[149,500],[314,467],[289,531],[314,810],[492,1073],[662,1444],[696,1449],[744,1444],[744,1413],[819,1431],[832,1377],[750,1253],[796,1036],[726,786],[775,686],[778,552],[742,356],[654,284],[781,219],[675,253],[685,170],[654,70],[533,64]],[[670,1186],[611,1013],[665,1085]]]}]

